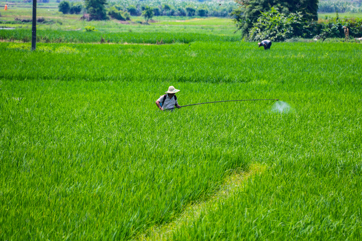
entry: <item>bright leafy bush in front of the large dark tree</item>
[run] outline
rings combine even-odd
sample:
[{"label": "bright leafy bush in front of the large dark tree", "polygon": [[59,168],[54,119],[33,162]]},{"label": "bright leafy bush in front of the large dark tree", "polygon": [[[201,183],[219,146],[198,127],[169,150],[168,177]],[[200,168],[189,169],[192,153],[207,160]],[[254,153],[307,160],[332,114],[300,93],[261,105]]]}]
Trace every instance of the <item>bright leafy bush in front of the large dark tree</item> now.
[{"label": "bright leafy bush in front of the large dark tree", "polygon": [[303,22],[302,17],[301,12],[286,15],[278,12],[278,9],[271,8],[269,12],[263,12],[253,24],[249,31],[249,39],[284,41],[292,36],[305,34],[310,26]]}]

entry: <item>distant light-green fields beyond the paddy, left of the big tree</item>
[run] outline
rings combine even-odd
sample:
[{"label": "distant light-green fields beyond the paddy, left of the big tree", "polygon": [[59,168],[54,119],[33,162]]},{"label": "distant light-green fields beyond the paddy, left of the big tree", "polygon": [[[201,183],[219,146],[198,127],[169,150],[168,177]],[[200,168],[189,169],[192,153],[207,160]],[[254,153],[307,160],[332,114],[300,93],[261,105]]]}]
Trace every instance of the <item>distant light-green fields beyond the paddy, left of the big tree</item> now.
[{"label": "distant light-green fields beyond the paddy, left of the big tree", "polygon": [[[240,34],[234,33],[235,26],[230,18],[155,16],[150,25],[141,25],[135,23],[135,21],[145,21],[140,16],[132,17],[128,24],[124,24],[125,22],[120,23],[116,20],[81,21],[81,14],[62,14],[57,8],[39,8],[37,14],[38,18],[45,19],[44,22],[37,24],[40,42],[89,43],[100,42],[102,37],[105,41],[109,40],[113,43],[156,43],[161,39],[163,43],[240,40]],[[0,30],[0,38],[11,41],[30,41],[31,22],[16,22],[14,21],[16,18],[30,20],[31,8],[10,7],[7,12],[2,13],[3,23],[0,22],[0,27],[16,29]],[[84,33],[87,26],[94,26],[97,31]]]}]

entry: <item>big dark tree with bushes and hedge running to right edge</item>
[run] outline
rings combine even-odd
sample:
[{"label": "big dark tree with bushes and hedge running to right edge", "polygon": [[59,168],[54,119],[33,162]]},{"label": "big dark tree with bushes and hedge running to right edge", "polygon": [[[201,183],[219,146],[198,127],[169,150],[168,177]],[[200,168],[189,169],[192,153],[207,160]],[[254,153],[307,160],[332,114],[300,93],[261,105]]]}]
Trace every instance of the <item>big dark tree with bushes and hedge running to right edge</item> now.
[{"label": "big dark tree with bushes and hedge running to right edge", "polygon": [[318,0],[238,0],[231,13],[241,35],[252,41],[284,41],[300,38],[344,38],[362,36],[362,19],[336,17],[318,21]]}]

